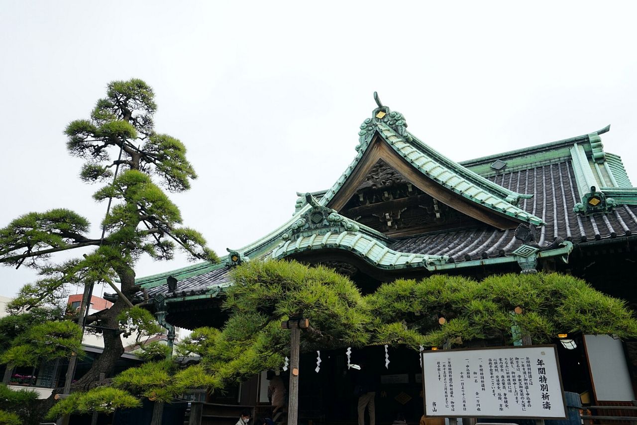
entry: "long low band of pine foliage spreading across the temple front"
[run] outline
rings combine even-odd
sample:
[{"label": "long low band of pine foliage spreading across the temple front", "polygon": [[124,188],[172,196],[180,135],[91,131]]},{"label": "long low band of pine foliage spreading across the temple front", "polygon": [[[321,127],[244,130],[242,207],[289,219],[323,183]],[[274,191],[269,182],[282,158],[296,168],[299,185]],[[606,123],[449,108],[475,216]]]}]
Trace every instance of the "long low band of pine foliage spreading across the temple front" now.
[{"label": "long low band of pine foliage spreading across the temple front", "polygon": [[[112,382],[117,397],[108,393],[108,400],[171,402],[189,389],[223,391],[262,370],[278,369],[289,356],[289,331],[281,322],[300,315],[310,321],[301,333],[302,352],[381,344],[458,346],[493,333],[511,341],[513,325],[536,344],[551,342],[561,331],[637,336],[637,320],[624,302],[569,275],[508,274],[483,281],[434,275],[398,279],[366,296],[334,270],[296,261],[251,261],[234,268],[231,279],[224,326],[194,330],[178,345],[180,355],[201,357],[197,365],[182,368],[164,359],[125,370]],[[513,314],[515,307],[522,307],[522,314]],[[143,319],[143,313],[132,316]],[[447,320],[441,325],[438,317]],[[95,407],[97,391],[105,390],[76,394],[55,412]],[[116,405],[110,403],[109,408]]]}]

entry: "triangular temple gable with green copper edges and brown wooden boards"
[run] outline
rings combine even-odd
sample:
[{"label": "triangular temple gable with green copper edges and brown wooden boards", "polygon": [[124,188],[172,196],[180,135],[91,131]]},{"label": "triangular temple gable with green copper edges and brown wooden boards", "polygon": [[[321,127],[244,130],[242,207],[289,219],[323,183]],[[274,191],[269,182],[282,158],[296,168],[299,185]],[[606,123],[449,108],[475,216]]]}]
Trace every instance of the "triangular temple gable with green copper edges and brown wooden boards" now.
[{"label": "triangular temple gable with green copper edges and brown wooden boards", "polygon": [[[393,235],[475,225],[476,221],[499,229],[543,224],[517,207],[520,198],[529,195],[496,185],[443,157],[408,133],[404,116],[389,108],[375,109],[373,118],[361,125],[359,136],[357,157],[322,199],[323,205],[349,218]],[[379,190],[382,186],[394,186],[394,192],[400,193]],[[385,211],[379,199],[387,206]],[[384,219],[385,225],[376,225],[371,216],[380,222]],[[397,219],[403,221],[399,227],[411,230],[399,231]]]}]

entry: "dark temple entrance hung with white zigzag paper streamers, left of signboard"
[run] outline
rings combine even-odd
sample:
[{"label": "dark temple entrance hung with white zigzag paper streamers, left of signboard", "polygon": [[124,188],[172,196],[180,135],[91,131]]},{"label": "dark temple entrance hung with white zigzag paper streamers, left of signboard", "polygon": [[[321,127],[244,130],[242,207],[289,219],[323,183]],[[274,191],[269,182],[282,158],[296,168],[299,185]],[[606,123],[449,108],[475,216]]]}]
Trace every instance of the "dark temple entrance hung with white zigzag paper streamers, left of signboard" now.
[{"label": "dark temple entrance hung with white zigzag paper streamers, left of signboard", "polygon": [[[422,380],[419,353],[405,347],[388,348],[389,368],[385,368],[385,347],[352,349],[351,363],[361,370],[347,367],[345,349],[321,351],[320,370],[317,353],[301,356],[299,379],[299,424],[353,424],[358,420],[357,383],[373,382],[376,389],[377,424],[391,424],[396,414],[408,423],[418,423],[422,415]],[[369,424],[366,412],[365,424]]]}]

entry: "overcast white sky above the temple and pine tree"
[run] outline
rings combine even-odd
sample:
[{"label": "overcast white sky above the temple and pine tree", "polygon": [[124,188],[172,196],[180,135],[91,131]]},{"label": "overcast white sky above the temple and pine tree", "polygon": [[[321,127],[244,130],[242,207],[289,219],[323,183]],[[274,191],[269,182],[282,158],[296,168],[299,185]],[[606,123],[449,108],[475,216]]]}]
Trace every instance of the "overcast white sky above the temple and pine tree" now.
[{"label": "overcast white sky above the temple and pine tree", "polygon": [[[531,4],[533,5],[532,7]],[[106,206],[78,178],[62,130],[111,80],[155,88],[159,132],[199,173],[171,195],[218,254],[329,188],[361,122],[383,104],[461,161],[579,136],[637,183],[637,25],[619,2],[0,1],[0,226]],[[187,265],[140,261],[138,276]],[[0,295],[33,273],[0,268]]]}]

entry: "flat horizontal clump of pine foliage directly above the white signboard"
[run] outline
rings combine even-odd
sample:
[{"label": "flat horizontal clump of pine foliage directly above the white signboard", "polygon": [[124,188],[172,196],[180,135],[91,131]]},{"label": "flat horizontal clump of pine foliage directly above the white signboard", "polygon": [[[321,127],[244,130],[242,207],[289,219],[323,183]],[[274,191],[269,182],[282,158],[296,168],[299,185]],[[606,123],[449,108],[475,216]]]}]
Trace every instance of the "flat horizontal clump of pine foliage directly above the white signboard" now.
[{"label": "flat horizontal clump of pine foliage directly above the white signboard", "polygon": [[[536,344],[564,332],[637,335],[637,321],[625,302],[556,273],[493,275],[482,282],[444,275],[399,279],[366,296],[366,303],[378,321],[405,323],[418,331],[425,346],[457,345],[494,333],[512,341],[513,324]],[[513,323],[515,307],[524,313]],[[438,317],[447,322],[440,326]]]}]

